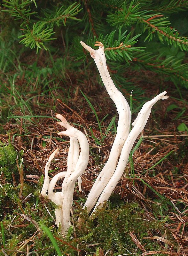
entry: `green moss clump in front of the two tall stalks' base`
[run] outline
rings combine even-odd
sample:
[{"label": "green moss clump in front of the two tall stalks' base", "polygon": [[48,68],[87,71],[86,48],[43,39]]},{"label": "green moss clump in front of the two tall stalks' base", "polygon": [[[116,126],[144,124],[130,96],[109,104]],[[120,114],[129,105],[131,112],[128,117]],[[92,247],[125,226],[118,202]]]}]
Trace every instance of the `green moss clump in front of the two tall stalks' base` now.
[{"label": "green moss clump in front of the two tall stalks' base", "polygon": [[137,255],[142,253],[132,241],[130,232],[136,235],[147,251],[160,251],[162,248],[159,243],[145,239],[145,237],[150,236],[149,234],[155,236],[159,230],[163,233],[164,224],[157,220],[146,220],[145,214],[138,204],[123,204],[113,209],[109,209],[106,205],[99,209],[92,218],[87,218],[83,213],[82,217],[87,218],[83,228],[84,232],[77,232],[80,237],[88,235],[87,244],[102,243],[100,246],[104,251],[113,247],[111,251],[114,256],[135,251]]}]

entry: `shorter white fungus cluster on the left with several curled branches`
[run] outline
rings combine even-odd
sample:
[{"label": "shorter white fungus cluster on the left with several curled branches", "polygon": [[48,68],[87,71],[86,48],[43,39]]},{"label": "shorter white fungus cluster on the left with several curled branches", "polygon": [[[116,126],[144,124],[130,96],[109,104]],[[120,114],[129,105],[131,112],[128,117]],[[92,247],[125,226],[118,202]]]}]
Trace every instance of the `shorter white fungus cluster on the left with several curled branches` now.
[{"label": "shorter white fungus cluster on the left with several curled branches", "polygon": [[[75,181],[78,179],[79,187],[81,184],[80,175],[84,172],[89,161],[89,144],[86,136],[70,124],[60,114],[56,114],[56,117],[61,120],[57,124],[65,127],[65,132],[59,132],[59,135],[70,137],[70,147],[67,157],[67,172],[60,172],[56,174],[50,181],[48,176],[48,170],[51,164],[51,160],[54,158],[58,149],[56,149],[45,166],[44,171],[44,184],[41,191],[43,196],[47,196],[59,207],[56,209],[56,224],[59,227],[61,225],[61,233],[67,234],[68,228],[70,227],[70,212],[73,202],[73,193]],[[80,143],[80,154],[79,144]],[[54,187],[58,180],[64,178],[62,183],[62,192],[54,193]]]}]

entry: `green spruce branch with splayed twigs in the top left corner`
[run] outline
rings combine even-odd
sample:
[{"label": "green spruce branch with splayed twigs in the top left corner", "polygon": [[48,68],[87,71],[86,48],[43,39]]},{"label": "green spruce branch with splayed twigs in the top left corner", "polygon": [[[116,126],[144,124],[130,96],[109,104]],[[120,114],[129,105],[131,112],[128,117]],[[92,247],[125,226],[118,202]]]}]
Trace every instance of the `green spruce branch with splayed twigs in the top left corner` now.
[{"label": "green spruce branch with splayed twigs in the top left corner", "polygon": [[81,4],[75,2],[67,8],[62,5],[52,11],[46,10],[43,12],[44,18],[35,15],[35,19],[31,20],[31,16],[37,14],[37,12],[31,11],[32,2],[36,7],[35,0],[4,0],[5,10],[3,11],[9,12],[11,16],[15,17],[15,20],[22,20],[20,28],[23,31],[23,35],[18,37],[21,38],[20,43],[31,49],[36,48],[36,53],[38,53],[38,50],[42,48],[46,51],[48,50],[44,45],[45,42],[56,39],[51,37],[55,33],[53,32],[54,25],[60,26],[63,23],[65,26],[67,19],[79,20],[75,15],[82,9],[80,8]]}]

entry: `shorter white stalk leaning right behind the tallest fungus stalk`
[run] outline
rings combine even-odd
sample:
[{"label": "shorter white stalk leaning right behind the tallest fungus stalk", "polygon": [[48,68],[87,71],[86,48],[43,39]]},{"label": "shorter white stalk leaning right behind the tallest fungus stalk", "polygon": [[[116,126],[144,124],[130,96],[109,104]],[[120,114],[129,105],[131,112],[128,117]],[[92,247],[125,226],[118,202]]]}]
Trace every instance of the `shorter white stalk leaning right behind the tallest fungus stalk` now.
[{"label": "shorter white stalk leaning right behind the tallest fungus stalk", "polygon": [[121,155],[120,155],[116,170],[112,175],[111,179],[109,180],[108,184],[102,191],[93,212],[95,212],[97,207],[101,207],[104,201],[108,200],[108,198],[111,196],[115,186],[117,185],[118,181],[121,179],[121,176],[125,170],[125,167],[129,159],[130,150],[135,140],[137,139],[138,135],[140,134],[140,132],[142,132],[142,130],[145,127],[145,124],[147,123],[147,120],[149,118],[153,105],[160,99],[161,100],[168,99],[168,96],[165,96],[166,93],[167,92],[162,92],[156,97],[154,97],[152,100],[146,102],[143,105],[140,112],[138,113],[137,118],[132,123],[132,126],[134,127],[130,131],[129,136],[127,137],[127,140],[125,141],[123,148],[121,150]]}]

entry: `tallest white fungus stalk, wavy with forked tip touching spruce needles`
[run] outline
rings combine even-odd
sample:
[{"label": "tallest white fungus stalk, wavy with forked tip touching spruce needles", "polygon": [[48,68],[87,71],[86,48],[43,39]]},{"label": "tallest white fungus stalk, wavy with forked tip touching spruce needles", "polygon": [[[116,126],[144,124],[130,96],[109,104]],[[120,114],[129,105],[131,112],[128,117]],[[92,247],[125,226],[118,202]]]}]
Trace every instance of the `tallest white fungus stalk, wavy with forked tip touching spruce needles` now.
[{"label": "tallest white fungus stalk, wavy with forked tip touching spruce needles", "polygon": [[127,100],[124,98],[122,93],[118,91],[118,89],[115,87],[115,84],[110,77],[106,66],[106,57],[103,44],[100,42],[96,42],[97,44],[95,44],[95,46],[99,46],[99,48],[98,50],[94,50],[82,41],[80,43],[88,52],[90,52],[91,57],[94,59],[102,81],[105,85],[106,91],[108,92],[110,98],[114,101],[117,112],[119,114],[117,134],[111,148],[108,161],[106,162],[102,171],[99,173],[98,178],[96,179],[93,187],[91,188],[86,203],[84,204],[84,207],[87,207],[87,212],[90,212],[115,171],[121,149],[129,134],[131,113]]}]

